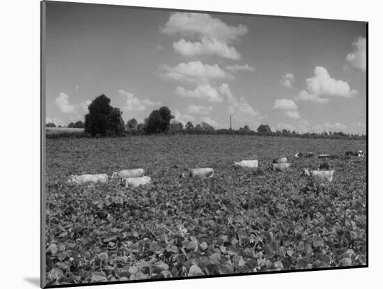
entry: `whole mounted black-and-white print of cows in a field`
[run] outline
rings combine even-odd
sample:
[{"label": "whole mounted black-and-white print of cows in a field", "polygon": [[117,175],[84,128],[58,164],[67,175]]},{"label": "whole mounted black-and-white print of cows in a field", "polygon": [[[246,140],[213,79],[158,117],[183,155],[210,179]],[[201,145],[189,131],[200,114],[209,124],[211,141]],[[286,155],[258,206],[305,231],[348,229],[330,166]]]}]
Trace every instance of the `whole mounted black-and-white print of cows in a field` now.
[{"label": "whole mounted black-and-white print of cows in a field", "polygon": [[363,21],[42,1],[41,286],[368,267],[367,48]]}]

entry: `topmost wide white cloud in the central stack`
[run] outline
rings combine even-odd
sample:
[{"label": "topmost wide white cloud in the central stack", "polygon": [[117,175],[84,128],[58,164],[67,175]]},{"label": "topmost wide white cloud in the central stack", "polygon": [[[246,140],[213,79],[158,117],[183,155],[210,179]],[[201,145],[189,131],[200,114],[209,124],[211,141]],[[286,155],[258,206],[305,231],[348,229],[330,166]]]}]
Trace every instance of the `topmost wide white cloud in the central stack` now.
[{"label": "topmost wide white cloud in the central stack", "polygon": [[247,33],[247,26],[230,26],[221,19],[205,13],[173,13],[161,29],[167,35],[180,34],[198,38],[210,38],[230,43]]}]

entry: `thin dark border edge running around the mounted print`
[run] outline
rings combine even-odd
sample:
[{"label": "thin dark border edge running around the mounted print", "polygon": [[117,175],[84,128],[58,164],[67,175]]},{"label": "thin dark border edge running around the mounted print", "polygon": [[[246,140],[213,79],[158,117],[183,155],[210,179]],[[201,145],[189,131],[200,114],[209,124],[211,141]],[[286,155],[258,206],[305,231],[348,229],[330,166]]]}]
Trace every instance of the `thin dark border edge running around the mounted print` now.
[{"label": "thin dark border edge running around the mounted print", "polygon": [[[273,18],[284,18],[284,19],[304,19],[307,21],[320,20],[330,22],[360,22],[366,25],[366,265],[356,266],[339,266],[339,267],[327,267],[327,268],[312,268],[302,270],[281,270],[281,271],[269,271],[269,272],[251,272],[251,273],[236,273],[236,274],[217,274],[217,275],[205,275],[205,276],[189,276],[189,277],[172,277],[164,279],[141,279],[141,280],[128,280],[128,281],[107,281],[107,282],[94,282],[94,283],[78,283],[78,284],[62,284],[62,285],[45,285],[46,283],[46,248],[45,248],[45,204],[46,204],[46,192],[45,192],[45,164],[46,164],[46,134],[45,134],[45,108],[46,108],[46,91],[45,91],[45,32],[46,32],[46,4],[56,3],[63,5],[74,5],[74,6],[108,6],[108,7],[121,7],[121,8],[132,8],[139,10],[164,10],[170,12],[187,12],[187,13],[209,13],[213,15],[238,15],[238,16],[256,16],[256,17],[273,17]],[[329,18],[313,18],[313,17],[295,17],[295,16],[280,16],[280,15],[258,15],[251,13],[234,13],[225,11],[210,11],[210,10],[188,10],[188,9],[177,9],[177,8],[157,8],[157,7],[146,7],[146,6],[129,6],[120,4],[106,4],[106,3],[88,3],[88,2],[71,2],[71,1],[40,1],[40,288],[67,288],[67,287],[80,287],[80,286],[100,286],[100,285],[115,285],[115,284],[126,284],[126,283],[143,283],[143,282],[158,282],[158,281],[173,281],[173,280],[192,280],[192,279],[206,279],[206,278],[217,278],[217,277],[235,277],[235,276],[253,276],[263,274],[283,274],[283,273],[299,273],[299,272],[314,272],[314,271],[328,271],[328,270],[343,270],[343,269],[359,269],[368,268],[369,252],[368,252],[368,21],[350,20],[350,19],[329,19]]]}]

